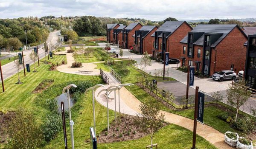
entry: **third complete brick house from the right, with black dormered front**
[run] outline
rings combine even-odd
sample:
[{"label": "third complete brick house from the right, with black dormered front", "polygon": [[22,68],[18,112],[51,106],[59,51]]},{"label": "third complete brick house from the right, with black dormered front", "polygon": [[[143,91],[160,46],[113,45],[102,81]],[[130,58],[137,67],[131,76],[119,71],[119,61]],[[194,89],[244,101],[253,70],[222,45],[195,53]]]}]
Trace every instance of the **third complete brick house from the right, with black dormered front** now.
[{"label": "third complete brick house from the right, with black dormered front", "polygon": [[140,30],[135,31],[134,37],[134,51],[143,54],[145,51],[151,54],[151,47],[153,46],[154,38],[151,37],[158,29],[155,25],[145,25]]}]

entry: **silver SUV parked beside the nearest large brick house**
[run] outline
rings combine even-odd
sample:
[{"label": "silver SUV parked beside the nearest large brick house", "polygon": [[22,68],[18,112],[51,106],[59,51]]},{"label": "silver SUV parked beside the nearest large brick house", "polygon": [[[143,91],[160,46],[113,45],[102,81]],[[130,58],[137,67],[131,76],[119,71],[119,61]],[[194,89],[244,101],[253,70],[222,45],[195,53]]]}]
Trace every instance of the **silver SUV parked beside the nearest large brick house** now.
[{"label": "silver SUV parked beside the nearest large brick house", "polygon": [[222,70],[218,73],[214,73],[212,75],[212,79],[214,80],[219,80],[219,81],[223,81],[223,80],[227,80],[227,79],[236,79],[236,73],[232,70]]}]

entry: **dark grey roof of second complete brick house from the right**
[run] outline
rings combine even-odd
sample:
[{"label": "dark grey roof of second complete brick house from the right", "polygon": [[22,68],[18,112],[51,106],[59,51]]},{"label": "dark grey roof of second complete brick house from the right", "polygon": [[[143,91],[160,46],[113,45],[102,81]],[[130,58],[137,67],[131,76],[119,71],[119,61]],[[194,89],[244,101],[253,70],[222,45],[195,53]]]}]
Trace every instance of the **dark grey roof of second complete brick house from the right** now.
[{"label": "dark grey roof of second complete brick house from the right", "polygon": [[[160,28],[157,29],[157,31],[174,32],[183,22],[186,21],[166,21],[162,26],[160,26]],[[154,36],[154,33],[151,36]],[[158,37],[162,37],[162,34],[160,34]]]}]

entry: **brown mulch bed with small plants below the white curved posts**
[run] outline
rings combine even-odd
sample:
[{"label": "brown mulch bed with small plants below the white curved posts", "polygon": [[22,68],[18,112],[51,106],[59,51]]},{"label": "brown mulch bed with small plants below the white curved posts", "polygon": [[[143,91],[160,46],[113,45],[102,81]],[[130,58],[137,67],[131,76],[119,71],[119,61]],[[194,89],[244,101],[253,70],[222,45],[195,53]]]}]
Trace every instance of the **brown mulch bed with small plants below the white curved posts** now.
[{"label": "brown mulch bed with small plants below the white curved posts", "polygon": [[113,120],[113,122],[110,124],[109,131],[106,129],[101,132],[101,134],[97,137],[97,142],[111,143],[128,141],[146,136],[147,134],[141,132],[140,128],[134,124],[135,117],[136,116],[132,115],[120,115],[120,118],[117,118],[117,123],[115,123],[115,120]]}]

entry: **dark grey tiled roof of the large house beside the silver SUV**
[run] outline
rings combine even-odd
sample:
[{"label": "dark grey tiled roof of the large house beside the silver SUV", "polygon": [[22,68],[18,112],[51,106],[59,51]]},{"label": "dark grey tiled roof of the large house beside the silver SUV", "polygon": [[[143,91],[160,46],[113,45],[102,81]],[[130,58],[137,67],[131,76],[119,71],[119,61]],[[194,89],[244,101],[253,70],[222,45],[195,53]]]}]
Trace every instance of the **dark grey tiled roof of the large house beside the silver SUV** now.
[{"label": "dark grey tiled roof of the large house beside the silver SUV", "polygon": [[[221,33],[221,37],[219,37],[211,47],[215,47],[224,39],[230,31],[233,30],[237,25],[236,24],[198,24],[191,32],[203,32],[203,33]],[[188,35],[183,38],[180,42],[187,43]],[[197,41],[194,42],[195,45],[204,45],[204,34],[198,38]]]}]

